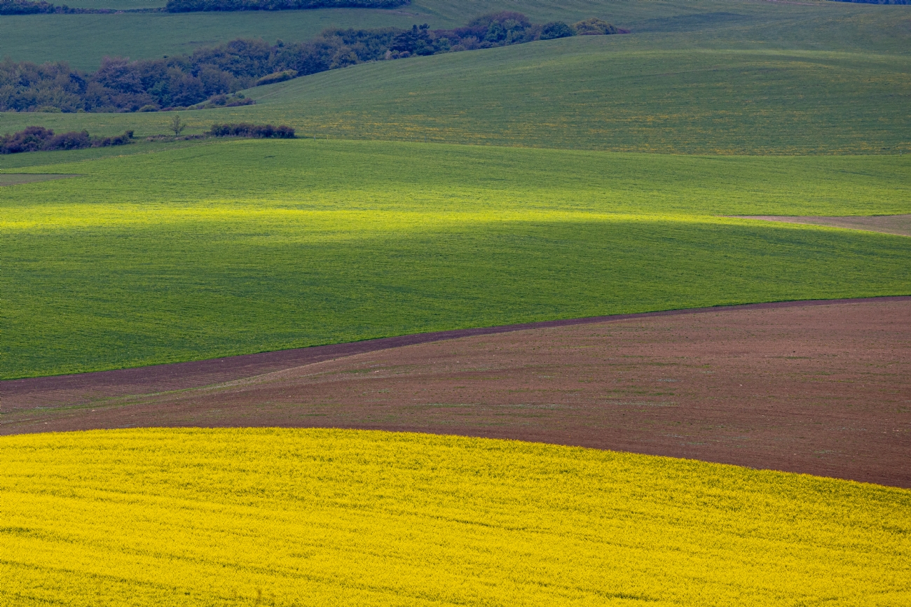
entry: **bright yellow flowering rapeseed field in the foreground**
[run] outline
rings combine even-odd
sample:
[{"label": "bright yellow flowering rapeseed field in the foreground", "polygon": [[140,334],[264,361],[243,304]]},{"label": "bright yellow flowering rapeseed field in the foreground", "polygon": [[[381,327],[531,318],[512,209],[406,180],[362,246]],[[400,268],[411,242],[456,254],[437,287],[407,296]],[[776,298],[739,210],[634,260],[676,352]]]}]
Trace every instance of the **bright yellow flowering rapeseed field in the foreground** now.
[{"label": "bright yellow flowering rapeseed field in the foreground", "polygon": [[0,438],[3,605],[911,605],[911,491],[354,430]]}]

